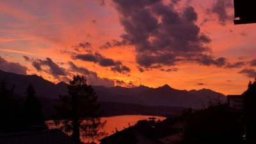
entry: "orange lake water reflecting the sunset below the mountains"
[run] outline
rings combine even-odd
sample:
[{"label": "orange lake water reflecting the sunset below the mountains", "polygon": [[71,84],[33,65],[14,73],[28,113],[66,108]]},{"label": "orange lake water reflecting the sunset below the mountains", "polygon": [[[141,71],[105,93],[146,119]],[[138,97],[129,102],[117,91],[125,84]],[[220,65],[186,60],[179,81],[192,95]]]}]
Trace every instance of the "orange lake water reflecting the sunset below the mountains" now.
[{"label": "orange lake water reflecting the sunset below the mountains", "polygon": [[[102,121],[107,120],[104,130],[108,133],[108,135],[113,134],[116,129],[121,131],[124,127],[129,127],[129,124],[132,126],[138,122],[138,120],[148,120],[149,115],[120,115],[120,116],[109,116],[102,117]],[[154,116],[157,120],[164,120],[163,116]],[[47,120],[46,124],[49,129],[55,129],[56,125],[53,120]],[[98,141],[97,141],[98,142]]]}]

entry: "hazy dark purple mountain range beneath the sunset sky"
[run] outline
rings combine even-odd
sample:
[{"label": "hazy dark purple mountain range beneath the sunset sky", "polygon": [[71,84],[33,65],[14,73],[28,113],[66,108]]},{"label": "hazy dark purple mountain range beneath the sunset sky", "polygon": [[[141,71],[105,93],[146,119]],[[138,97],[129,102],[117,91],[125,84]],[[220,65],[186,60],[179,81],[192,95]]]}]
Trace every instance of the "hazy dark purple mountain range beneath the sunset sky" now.
[{"label": "hazy dark purple mountain range beneath the sunset sky", "polygon": [[[24,96],[26,88],[31,83],[35,88],[36,95],[47,99],[58,99],[59,95],[67,95],[67,84],[60,82],[54,84],[36,75],[19,75],[0,70],[0,80],[15,85],[15,95]],[[210,100],[225,101],[222,93],[209,89],[202,90],[176,90],[165,84],[158,88],[138,86],[125,88],[122,86],[105,87],[93,86],[98,100],[102,102],[122,102],[140,104],[144,106],[171,106],[185,108],[204,108],[209,105]]]}]

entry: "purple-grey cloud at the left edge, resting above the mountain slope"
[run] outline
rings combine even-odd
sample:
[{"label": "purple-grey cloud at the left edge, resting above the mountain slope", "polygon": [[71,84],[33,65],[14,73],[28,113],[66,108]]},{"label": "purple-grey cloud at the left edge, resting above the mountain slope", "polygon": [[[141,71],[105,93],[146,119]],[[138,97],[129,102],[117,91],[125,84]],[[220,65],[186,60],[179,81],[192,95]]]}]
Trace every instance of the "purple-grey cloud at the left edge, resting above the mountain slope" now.
[{"label": "purple-grey cloud at the left edge, resting above the mountain slope", "polygon": [[6,61],[0,56],[0,69],[5,72],[13,72],[15,74],[27,74],[28,68],[20,65],[20,63],[15,63],[12,61]]}]

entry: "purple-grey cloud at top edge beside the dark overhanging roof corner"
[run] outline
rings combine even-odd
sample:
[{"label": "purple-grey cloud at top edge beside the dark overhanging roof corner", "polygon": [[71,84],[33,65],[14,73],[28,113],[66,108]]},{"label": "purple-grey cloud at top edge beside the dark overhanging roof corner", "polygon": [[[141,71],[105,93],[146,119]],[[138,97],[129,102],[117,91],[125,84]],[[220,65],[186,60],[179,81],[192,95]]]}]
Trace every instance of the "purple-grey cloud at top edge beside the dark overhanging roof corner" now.
[{"label": "purple-grey cloud at top edge beside the dark overhanging roof corner", "polygon": [[227,9],[232,7],[231,0],[216,0],[208,11],[209,13],[216,14],[220,24],[225,25],[228,19],[232,19],[232,16],[227,13]]}]

